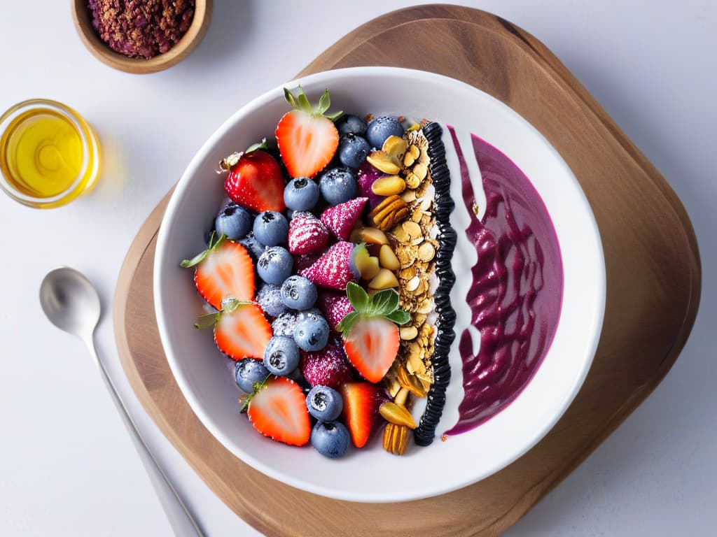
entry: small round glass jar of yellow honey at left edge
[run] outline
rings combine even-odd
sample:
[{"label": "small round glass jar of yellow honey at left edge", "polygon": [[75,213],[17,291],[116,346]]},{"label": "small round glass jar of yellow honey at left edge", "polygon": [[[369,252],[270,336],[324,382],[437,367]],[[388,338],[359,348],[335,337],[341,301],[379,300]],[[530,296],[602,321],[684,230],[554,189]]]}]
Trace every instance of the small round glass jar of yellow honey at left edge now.
[{"label": "small round glass jar of yellow honey at left edge", "polygon": [[65,205],[95,184],[100,145],[72,108],[33,99],[0,117],[0,188],[34,208]]}]

